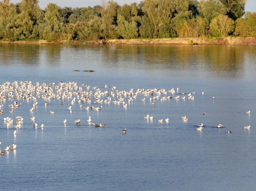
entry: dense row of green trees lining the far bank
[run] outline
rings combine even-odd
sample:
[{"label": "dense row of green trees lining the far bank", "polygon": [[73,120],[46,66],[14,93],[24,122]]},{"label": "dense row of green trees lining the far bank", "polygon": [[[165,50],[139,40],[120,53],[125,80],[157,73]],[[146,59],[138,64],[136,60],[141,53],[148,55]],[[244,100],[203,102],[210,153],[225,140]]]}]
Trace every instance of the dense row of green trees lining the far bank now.
[{"label": "dense row of green trees lining the far bank", "polygon": [[101,0],[94,7],[48,3],[41,9],[38,0],[3,0],[0,43],[255,45],[256,12],[245,13],[245,4],[246,0],[143,0],[120,6]]}]

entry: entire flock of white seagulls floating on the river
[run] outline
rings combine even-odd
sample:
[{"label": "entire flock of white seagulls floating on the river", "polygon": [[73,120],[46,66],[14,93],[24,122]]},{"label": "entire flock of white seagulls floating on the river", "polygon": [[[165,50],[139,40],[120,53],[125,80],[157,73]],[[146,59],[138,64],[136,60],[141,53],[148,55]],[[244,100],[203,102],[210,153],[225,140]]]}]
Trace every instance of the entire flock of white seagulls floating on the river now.
[{"label": "entire flock of white seagulls floating on the river", "polygon": [[[12,101],[13,99],[16,99],[14,101],[14,105],[10,104],[8,111],[9,113],[13,113],[14,109],[17,107],[21,107],[22,104],[18,103],[18,100],[24,99],[24,100],[32,100],[34,101],[31,108],[29,108],[30,112],[34,112],[35,108],[38,106],[37,99],[43,99],[44,105],[48,105],[48,101],[51,99],[58,99],[63,100],[61,104],[64,104],[64,101],[70,101],[70,106],[68,106],[68,111],[72,113],[72,106],[75,104],[75,101],[77,101],[80,105],[79,107],[82,108],[81,102],[86,103],[94,103],[94,104],[110,104],[111,102],[113,104],[123,104],[123,108],[127,108],[127,102],[130,103],[133,101],[133,99],[136,99],[138,94],[143,94],[145,97],[151,94],[152,97],[149,98],[150,101],[154,101],[152,105],[155,105],[155,100],[160,99],[160,101],[165,101],[167,99],[172,99],[170,94],[175,94],[176,92],[179,92],[179,88],[172,88],[171,90],[168,90],[169,95],[167,95],[167,91],[165,89],[157,90],[157,89],[138,89],[136,91],[133,91],[133,89],[130,89],[129,91],[118,91],[116,90],[116,87],[112,87],[111,91],[107,91],[106,89],[109,88],[107,85],[104,86],[104,91],[101,91],[98,87],[90,87],[89,85],[81,85],[82,87],[79,87],[77,83],[75,82],[69,82],[64,83],[60,82],[58,85],[55,85],[55,83],[50,83],[46,85],[45,83],[39,84],[39,82],[36,82],[36,85],[32,85],[31,81],[24,81],[18,83],[15,81],[14,83],[6,82],[3,85],[0,85],[0,115],[3,115],[3,108],[6,101]],[[93,91],[93,90],[94,91]],[[182,92],[181,94],[185,94],[185,92]],[[194,96],[192,94],[195,94],[195,92],[187,94],[187,99],[194,99]],[[202,93],[204,94],[204,93]],[[156,95],[154,97],[154,95]],[[167,95],[167,96],[162,96]],[[162,96],[162,97],[161,97]],[[105,97],[105,100],[102,98]],[[124,97],[128,97],[125,101]],[[141,101],[145,101],[145,97],[141,99]],[[94,98],[94,100],[92,100]],[[113,99],[113,101],[111,101]],[[174,97],[174,99],[180,99],[180,96]],[[186,97],[181,97],[181,99],[186,99]],[[213,100],[215,100],[215,97],[213,97]],[[2,104],[3,103],[3,104]],[[99,107],[94,106],[87,106],[85,107],[86,110],[102,110],[102,105]],[[54,114],[54,111],[49,111],[49,113]],[[246,114],[250,114],[250,111],[246,111]],[[205,113],[202,113],[202,115],[205,115]],[[153,116],[146,115],[144,117],[145,119],[152,120]],[[186,116],[181,117],[181,119],[184,122],[188,121],[188,118]],[[23,118],[21,116],[15,117],[15,122],[10,117],[3,118],[5,126],[7,128],[14,127],[16,128],[12,134],[14,136],[17,133],[17,129],[21,127],[21,124],[23,123]],[[30,120],[33,121],[34,128],[37,128],[38,126],[41,127],[43,130],[44,125],[38,125],[35,123],[35,116],[30,117]],[[86,120],[88,123],[92,123],[95,127],[104,127],[105,124],[99,124],[92,122],[91,116]],[[169,118],[166,119],[158,119],[159,123],[169,122]],[[64,119],[61,121],[64,125],[66,124],[67,120]],[[74,121],[76,125],[80,125],[81,121],[80,119],[77,119]],[[16,123],[15,125],[13,123]],[[201,131],[203,129],[203,123],[197,125],[198,128],[196,130]],[[216,126],[217,128],[223,127],[221,124]],[[250,125],[244,127],[245,129],[249,129]],[[126,133],[126,129],[123,130],[123,133]],[[228,131],[228,133],[231,133]],[[0,142],[1,144],[1,142]],[[16,149],[17,145],[12,144],[10,146],[7,146],[4,148],[5,151],[8,151],[9,149]],[[1,152],[1,155],[4,155],[5,152]]]}]

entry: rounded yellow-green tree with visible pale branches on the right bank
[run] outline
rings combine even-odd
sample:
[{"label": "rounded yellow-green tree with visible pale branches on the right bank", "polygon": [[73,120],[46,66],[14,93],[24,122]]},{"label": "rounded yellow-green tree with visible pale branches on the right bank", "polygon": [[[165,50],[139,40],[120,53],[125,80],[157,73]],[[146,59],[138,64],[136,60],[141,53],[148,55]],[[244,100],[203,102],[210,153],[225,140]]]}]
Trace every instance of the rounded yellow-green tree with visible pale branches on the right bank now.
[{"label": "rounded yellow-green tree with visible pale branches on the right bank", "polygon": [[234,31],[234,20],[220,14],[211,21],[210,31],[213,36],[227,36]]}]

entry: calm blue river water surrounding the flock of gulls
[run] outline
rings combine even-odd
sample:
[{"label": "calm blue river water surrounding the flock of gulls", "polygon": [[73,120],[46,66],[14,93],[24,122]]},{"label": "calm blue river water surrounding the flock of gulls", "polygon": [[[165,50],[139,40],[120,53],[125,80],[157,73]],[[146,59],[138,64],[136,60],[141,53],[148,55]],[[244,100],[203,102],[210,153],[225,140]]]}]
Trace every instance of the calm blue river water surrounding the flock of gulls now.
[{"label": "calm blue river water surrounding the flock of gulls", "polygon": [[[126,101],[129,96],[124,97],[127,108],[112,102],[81,102],[79,108],[75,102],[72,113],[67,109],[71,100],[61,105],[63,100],[51,99],[45,107],[45,100],[37,99],[33,113],[28,109],[36,101],[0,103],[4,105],[1,151],[17,145],[16,150],[0,155],[3,190],[254,190],[255,52],[255,46],[0,45],[0,84],[75,81],[79,87],[97,86],[101,91],[107,84],[108,92],[112,86],[119,91],[167,90],[159,98],[179,87],[179,92],[171,94],[173,99],[157,99],[155,106],[149,100],[151,94],[145,102],[143,94],[131,103]],[[181,92],[196,92],[195,99],[174,99],[182,97]],[[8,105],[14,101],[22,106],[9,113]],[[92,105],[103,108],[85,110]],[[50,114],[51,110],[55,113]],[[248,110],[250,115],[245,114]],[[153,120],[144,119],[147,114]],[[6,128],[3,122],[7,116],[24,118],[16,136],[14,127]],[[43,130],[33,127],[32,116],[44,124]],[[94,127],[86,121],[89,116],[94,123],[106,125]],[[181,116],[187,116],[188,122]],[[162,118],[169,118],[169,123],[157,121]],[[61,123],[64,119],[66,126]],[[77,119],[80,126],[75,125]],[[202,131],[196,130],[200,123]],[[216,128],[218,124],[224,127]],[[250,130],[244,129],[246,125],[251,125]]]}]

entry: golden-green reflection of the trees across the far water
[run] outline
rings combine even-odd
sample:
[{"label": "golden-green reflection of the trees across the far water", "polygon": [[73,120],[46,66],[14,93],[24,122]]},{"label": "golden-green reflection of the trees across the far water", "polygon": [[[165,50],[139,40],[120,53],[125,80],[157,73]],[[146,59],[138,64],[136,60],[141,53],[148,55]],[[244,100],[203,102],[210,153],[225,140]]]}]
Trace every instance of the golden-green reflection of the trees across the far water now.
[{"label": "golden-green reflection of the trees across the far water", "polygon": [[[119,71],[167,71],[237,78],[251,70],[254,46],[217,45],[0,45],[0,66],[95,67]],[[255,68],[252,68],[255,70]]]}]

